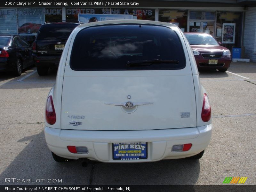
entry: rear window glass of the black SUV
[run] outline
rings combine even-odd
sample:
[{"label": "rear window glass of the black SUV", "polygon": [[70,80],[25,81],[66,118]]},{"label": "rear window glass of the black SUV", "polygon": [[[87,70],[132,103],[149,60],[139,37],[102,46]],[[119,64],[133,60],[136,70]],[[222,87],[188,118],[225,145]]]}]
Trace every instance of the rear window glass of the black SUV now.
[{"label": "rear window glass of the black SUV", "polygon": [[37,34],[37,40],[68,39],[70,33],[79,24],[46,24],[42,25]]}]

